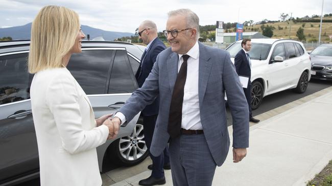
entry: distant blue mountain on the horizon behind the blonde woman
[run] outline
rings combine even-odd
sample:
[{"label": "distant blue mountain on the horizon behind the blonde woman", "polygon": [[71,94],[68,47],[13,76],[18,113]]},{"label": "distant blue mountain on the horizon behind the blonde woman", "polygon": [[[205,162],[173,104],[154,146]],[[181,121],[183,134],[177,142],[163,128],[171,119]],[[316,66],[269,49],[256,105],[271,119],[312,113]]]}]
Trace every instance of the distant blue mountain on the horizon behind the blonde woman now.
[{"label": "distant blue mountain on the horizon behind the blonde woman", "polygon": [[[31,35],[31,24],[28,23],[22,26],[14,26],[9,28],[0,28],[0,38],[3,37],[12,37],[13,40],[30,40]],[[120,33],[120,32],[111,32],[105,31],[98,28],[93,28],[87,25],[82,25],[82,30],[87,36],[90,35],[90,40],[97,37],[103,37],[106,41],[113,41],[117,38],[133,36],[132,33]]]}]

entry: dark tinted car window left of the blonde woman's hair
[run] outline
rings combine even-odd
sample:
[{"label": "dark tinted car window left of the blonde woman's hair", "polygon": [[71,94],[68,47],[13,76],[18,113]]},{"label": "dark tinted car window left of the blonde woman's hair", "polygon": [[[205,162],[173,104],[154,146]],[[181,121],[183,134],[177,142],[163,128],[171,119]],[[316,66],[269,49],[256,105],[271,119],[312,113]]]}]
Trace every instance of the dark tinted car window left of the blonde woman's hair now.
[{"label": "dark tinted car window left of the blonde woman's hair", "polygon": [[28,55],[0,56],[0,105],[30,98]]}]

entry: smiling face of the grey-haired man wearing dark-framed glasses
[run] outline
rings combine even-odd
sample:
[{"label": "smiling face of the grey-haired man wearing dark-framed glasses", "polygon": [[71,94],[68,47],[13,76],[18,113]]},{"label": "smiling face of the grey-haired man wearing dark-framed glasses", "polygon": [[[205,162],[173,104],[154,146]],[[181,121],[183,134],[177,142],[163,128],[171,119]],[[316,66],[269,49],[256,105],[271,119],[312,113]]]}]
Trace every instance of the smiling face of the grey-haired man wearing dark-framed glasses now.
[{"label": "smiling face of the grey-haired man wearing dark-framed glasses", "polygon": [[[166,23],[167,30],[186,29],[186,18],[182,15],[175,15],[170,17]],[[171,33],[168,34],[167,40],[170,42],[172,51],[178,54],[185,54],[191,49],[193,42],[196,41],[195,36],[192,36],[192,29],[183,30],[178,33],[177,37],[173,37]]]}]

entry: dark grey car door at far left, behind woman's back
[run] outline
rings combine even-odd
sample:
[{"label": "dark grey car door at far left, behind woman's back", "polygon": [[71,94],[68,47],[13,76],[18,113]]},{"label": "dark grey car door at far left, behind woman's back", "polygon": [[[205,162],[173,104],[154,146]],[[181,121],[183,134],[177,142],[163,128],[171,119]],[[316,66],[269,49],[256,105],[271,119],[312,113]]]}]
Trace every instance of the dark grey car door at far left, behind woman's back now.
[{"label": "dark grey car door at far left, behind woman's back", "polygon": [[0,54],[0,184],[39,172],[28,52]]}]

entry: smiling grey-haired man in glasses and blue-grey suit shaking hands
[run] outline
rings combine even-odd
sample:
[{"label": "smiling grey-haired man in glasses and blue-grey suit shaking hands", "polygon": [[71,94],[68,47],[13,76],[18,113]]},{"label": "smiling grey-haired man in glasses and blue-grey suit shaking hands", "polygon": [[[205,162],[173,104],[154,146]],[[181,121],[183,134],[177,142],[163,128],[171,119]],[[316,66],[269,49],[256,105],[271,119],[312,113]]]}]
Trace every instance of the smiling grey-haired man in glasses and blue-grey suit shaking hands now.
[{"label": "smiling grey-haired man in glasses and blue-grey suit shaking hands", "polygon": [[249,146],[248,105],[229,53],[198,42],[198,16],[189,9],[168,15],[163,32],[171,47],[159,53],[143,86],[110,122],[130,121],[159,96],[151,153],[159,156],[170,140],[173,185],[211,185],[230,144],[225,91],[233,118],[234,163]]}]

